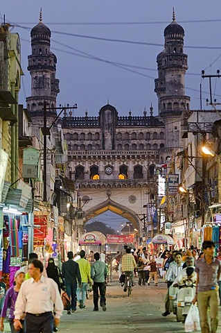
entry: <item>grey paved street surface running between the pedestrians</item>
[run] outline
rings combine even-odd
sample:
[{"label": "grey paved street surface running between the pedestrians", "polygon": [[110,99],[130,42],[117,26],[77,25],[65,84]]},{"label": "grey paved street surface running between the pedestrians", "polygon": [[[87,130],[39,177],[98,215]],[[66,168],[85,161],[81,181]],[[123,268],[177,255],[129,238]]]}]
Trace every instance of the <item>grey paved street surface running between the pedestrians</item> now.
[{"label": "grey paved street surface running between the pedestrians", "polygon": [[[101,308],[98,312],[93,311],[91,293],[85,309],[78,307],[71,315],[64,311],[59,332],[98,333],[105,330],[108,333],[184,333],[184,324],[177,323],[174,314],[166,318],[161,316],[165,294],[166,284],[159,280],[158,287],[154,287],[153,282],[150,287],[140,287],[136,283],[132,295],[128,297],[115,273],[113,282],[107,287],[107,311],[103,312]],[[8,324],[5,328],[5,332],[10,332]],[[218,332],[221,332],[221,307]]]}]

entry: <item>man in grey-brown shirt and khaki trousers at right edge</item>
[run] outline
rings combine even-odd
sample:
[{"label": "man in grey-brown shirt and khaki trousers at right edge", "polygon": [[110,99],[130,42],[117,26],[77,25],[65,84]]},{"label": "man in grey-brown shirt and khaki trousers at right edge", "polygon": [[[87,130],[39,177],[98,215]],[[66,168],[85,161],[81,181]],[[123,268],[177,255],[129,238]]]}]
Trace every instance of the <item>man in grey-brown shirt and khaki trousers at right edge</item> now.
[{"label": "man in grey-brown shirt and khaki trousers at right edge", "polygon": [[[213,241],[204,241],[202,250],[205,255],[201,260],[197,260],[195,265],[197,283],[193,304],[197,302],[198,305],[201,332],[215,333],[218,329],[218,280],[220,279],[221,265],[220,261],[214,257],[215,244]],[[211,329],[208,322],[209,308]]]}]

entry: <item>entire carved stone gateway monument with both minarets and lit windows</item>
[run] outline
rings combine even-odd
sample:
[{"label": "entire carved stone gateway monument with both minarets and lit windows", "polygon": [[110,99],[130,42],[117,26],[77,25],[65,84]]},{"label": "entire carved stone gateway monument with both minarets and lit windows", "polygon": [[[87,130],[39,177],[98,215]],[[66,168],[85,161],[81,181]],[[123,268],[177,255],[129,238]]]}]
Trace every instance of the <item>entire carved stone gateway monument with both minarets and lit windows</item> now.
[{"label": "entire carved stone gateway monument with both minarets and lit windows", "polygon": [[[41,37],[35,36],[36,28],[41,29]],[[185,96],[188,67],[183,53],[184,29],[175,22],[175,15],[164,36],[165,49],[157,56],[157,117],[153,116],[152,106],[150,115],[144,110],[139,117],[131,112],[122,117],[107,103],[98,116],[89,117],[86,112],[84,117],[73,117],[72,112],[66,111],[61,119],[69,151],[69,178],[78,189],[85,222],[112,210],[141,231],[138,216],[146,213],[143,206],[150,195],[157,200],[155,167],[165,164],[173,148],[181,146],[181,114],[188,110],[190,98]],[[32,55],[28,57],[32,96],[27,103],[35,119],[41,115],[43,101],[55,105],[59,92],[50,37],[51,31],[42,22],[33,28]]]}]

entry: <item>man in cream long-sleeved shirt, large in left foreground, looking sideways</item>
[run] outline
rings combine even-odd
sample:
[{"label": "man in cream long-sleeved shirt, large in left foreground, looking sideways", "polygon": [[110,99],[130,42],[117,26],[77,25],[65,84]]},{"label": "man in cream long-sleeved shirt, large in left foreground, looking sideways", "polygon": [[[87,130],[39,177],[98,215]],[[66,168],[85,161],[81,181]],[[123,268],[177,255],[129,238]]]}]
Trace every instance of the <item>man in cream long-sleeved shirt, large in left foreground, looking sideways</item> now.
[{"label": "man in cream long-sleeved shirt, large in left foreground, looking sideways", "polygon": [[15,302],[15,330],[22,328],[20,320],[24,313],[26,332],[53,333],[53,327],[60,323],[63,303],[57,284],[42,272],[43,264],[38,259],[28,265],[30,279],[21,284]]}]

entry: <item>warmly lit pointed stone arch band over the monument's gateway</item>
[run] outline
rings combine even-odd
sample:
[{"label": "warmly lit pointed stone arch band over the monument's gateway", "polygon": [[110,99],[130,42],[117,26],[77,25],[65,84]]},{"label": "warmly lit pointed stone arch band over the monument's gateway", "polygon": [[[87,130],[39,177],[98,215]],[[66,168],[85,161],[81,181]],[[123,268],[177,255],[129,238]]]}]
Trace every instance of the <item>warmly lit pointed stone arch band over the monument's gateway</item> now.
[{"label": "warmly lit pointed stone arch band over the monument's gateway", "polygon": [[93,219],[94,216],[107,212],[107,210],[110,210],[111,212],[114,212],[115,214],[124,217],[125,219],[127,219],[132,223],[134,228],[136,228],[139,231],[141,230],[139,218],[138,216],[136,216],[136,213],[126,206],[123,206],[119,203],[115,203],[110,198],[105,200],[103,203],[100,203],[99,205],[90,208],[89,210],[85,210],[84,223],[87,223],[87,221]]}]

